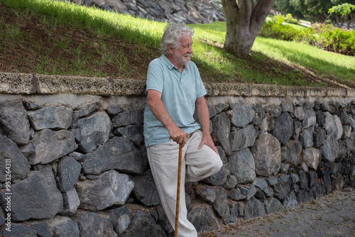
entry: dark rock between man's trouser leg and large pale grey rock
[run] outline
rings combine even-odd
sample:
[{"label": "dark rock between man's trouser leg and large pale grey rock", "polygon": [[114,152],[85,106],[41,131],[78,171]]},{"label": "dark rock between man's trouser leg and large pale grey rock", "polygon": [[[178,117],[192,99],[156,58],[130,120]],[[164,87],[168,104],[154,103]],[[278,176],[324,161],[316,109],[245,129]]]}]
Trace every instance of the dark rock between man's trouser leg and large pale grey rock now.
[{"label": "dark rock between man's trouser leg and large pale grey rock", "polygon": [[160,203],[158,189],[155,186],[151,170],[146,170],[143,175],[133,177],[133,194],[139,202],[146,206],[157,206]]}]

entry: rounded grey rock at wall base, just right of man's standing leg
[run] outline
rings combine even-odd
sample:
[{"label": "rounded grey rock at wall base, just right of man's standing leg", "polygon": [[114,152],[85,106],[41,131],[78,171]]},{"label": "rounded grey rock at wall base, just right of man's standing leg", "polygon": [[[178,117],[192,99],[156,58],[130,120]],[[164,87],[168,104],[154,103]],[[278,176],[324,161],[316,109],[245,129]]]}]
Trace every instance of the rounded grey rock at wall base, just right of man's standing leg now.
[{"label": "rounded grey rock at wall base, just right of man's standing leg", "polygon": [[195,226],[197,233],[213,231],[220,227],[219,219],[207,204],[192,204],[187,219]]}]

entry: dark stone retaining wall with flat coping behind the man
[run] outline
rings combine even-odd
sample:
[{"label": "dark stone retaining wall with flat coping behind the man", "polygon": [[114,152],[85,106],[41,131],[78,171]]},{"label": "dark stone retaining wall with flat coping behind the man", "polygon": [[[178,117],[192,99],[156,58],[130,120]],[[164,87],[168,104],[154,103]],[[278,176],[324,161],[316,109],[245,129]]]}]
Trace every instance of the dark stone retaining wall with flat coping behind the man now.
[{"label": "dark stone retaining wall with flat coping behind the man", "polygon": [[[355,187],[354,90],[205,87],[224,166],[186,184],[199,232]],[[144,91],[145,81],[0,73],[3,236],[173,236],[143,145]]]}]

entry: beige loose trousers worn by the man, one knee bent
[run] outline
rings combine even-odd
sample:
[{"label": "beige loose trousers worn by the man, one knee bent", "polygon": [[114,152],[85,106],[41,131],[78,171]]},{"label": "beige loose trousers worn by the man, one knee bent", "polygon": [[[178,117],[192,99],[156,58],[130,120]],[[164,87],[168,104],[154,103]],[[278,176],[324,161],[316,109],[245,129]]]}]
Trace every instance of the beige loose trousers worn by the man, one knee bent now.
[{"label": "beige loose trousers worn by the man, one knee bent", "polygon": [[[207,145],[200,150],[200,130],[190,134],[182,148],[179,237],[197,237],[195,227],[187,220],[185,181],[196,182],[217,173],[223,163],[219,155]],[[159,197],[168,221],[175,228],[176,194],[178,187],[179,145],[173,140],[147,147],[149,165],[158,188]]]}]

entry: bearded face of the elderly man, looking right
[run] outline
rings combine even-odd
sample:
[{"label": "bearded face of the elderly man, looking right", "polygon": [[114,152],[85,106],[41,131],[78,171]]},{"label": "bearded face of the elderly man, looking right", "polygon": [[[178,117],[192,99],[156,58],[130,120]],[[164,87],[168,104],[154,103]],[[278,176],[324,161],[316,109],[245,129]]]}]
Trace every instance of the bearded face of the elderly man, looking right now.
[{"label": "bearded face of the elderly man, looking right", "polygon": [[180,45],[177,48],[169,50],[171,53],[171,59],[173,65],[176,67],[183,67],[190,62],[190,56],[192,55],[192,37],[183,35],[180,39]]}]

